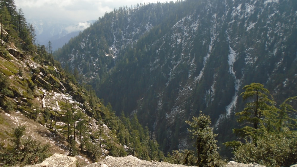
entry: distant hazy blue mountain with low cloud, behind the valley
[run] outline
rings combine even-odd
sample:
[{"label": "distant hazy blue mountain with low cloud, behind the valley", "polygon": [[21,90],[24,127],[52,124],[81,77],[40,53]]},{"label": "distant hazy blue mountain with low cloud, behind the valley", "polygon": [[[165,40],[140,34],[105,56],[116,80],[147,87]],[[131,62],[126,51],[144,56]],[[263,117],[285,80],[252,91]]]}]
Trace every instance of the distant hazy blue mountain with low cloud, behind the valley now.
[{"label": "distant hazy blue mountain with low cloud, behind the valley", "polygon": [[94,20],[86,21],[83,23],[55,23],[55,21],[46,20],[30,20],[30,23],[34,25],[36,31],[36,39],[40,45],[47,45],[48,41],[52,42],[52,49],[55,51],[61,48],[72,37],[79,34],[89,27]]}]

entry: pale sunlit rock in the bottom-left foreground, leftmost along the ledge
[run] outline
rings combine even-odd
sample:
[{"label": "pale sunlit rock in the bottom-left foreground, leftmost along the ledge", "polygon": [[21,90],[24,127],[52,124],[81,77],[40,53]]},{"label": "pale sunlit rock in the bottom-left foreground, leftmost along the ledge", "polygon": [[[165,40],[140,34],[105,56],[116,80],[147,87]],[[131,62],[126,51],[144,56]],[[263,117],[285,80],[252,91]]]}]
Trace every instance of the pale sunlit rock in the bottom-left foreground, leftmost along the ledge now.
[{"label": "pale sunlit rock in the bottom-left foreground, leftmost along the ledge", "polygon": [[29,165],[26,167],[76,167],[76,158],[69,157],[63,154],[54,154],[51,157],[46,158],[42,163],[36,165]]}]

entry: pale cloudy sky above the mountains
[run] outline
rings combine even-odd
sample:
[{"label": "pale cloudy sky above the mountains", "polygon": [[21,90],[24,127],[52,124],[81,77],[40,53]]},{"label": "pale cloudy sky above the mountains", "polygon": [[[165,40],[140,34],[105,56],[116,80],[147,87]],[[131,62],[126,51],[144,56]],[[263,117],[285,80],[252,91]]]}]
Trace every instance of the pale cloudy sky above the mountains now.
[{"label": "pale cloudy sky above the mountains", "polygon": [[169,0],[15,0],[27,20],[46,19],[52,22],[84,22],[97,20],[105,12],[137,3],[166,2]]}]

